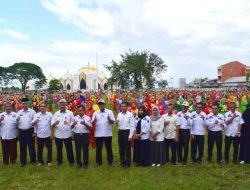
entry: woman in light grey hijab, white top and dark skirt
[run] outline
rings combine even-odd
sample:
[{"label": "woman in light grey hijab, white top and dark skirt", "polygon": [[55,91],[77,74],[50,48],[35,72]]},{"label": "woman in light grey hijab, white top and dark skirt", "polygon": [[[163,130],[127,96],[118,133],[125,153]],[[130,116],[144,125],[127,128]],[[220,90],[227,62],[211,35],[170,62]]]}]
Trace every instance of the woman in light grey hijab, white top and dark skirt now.
[{"label": "woman in light grey hijab, white top and dark skirt", "polygon": [[150,159],[152,166],[161,166],[165,164],[164,148],[164,119],[160,115],[159,108],[152,108],[150,117]]}]

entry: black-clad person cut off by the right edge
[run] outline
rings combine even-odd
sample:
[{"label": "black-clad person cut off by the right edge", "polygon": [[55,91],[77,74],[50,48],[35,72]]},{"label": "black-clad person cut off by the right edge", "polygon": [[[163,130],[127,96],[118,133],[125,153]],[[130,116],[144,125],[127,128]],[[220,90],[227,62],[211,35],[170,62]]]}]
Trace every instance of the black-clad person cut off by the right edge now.
[{"label": "black-clad person cut off by the right edge", "polygon": [[250,164],[250,103],[247,104],[246,110],[242,114],[244,124],[241,128],[240,136],[240,163]]}]

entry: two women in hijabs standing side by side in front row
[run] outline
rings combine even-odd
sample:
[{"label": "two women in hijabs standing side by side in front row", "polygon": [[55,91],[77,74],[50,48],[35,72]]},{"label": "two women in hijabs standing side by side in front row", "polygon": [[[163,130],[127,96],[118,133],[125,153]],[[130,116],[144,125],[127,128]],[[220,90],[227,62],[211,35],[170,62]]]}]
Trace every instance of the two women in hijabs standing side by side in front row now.
[{"label": "two women in hijabs standing side by side in front row", "polygon": [[164,119],[157,106],[149,117],[145,107],[139,107],[135,117],[134,162],[138,166],[161,166],[166,162],[164,148]]}]

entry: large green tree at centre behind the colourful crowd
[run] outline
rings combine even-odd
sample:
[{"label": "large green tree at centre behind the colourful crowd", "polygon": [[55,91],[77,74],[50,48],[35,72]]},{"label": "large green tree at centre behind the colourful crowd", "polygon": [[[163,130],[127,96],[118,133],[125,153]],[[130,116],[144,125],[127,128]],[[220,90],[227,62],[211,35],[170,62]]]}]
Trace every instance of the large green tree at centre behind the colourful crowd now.
[{"label": "large green tree at centre behind the colourful crowd", "polygon": [[121,55],[121,60],[112,60],[111,65],[104,65],[110,71],[109,85],[118,85],[121,88],[134,87],[141,89],[144,86],[153,88],[159,74],[166,71],[167,65],[156,54],[149,51],[129,50]]}]

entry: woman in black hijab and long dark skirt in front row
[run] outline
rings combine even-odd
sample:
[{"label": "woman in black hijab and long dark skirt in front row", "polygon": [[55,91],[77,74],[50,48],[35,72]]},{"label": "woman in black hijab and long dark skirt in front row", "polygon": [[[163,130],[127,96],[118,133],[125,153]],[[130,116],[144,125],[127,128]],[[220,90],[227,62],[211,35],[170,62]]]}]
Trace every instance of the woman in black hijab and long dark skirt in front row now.
[{"label": "woman in black hijab and long dark skirt in front row", "polygon": [[146,109],[140,106],[138,116],[135,117],[135,142],[134,142],[134,162],[137,166],[150,165],[150,118]]}]

